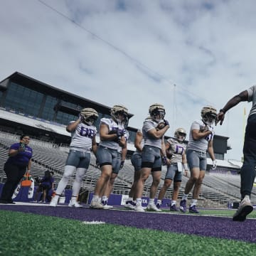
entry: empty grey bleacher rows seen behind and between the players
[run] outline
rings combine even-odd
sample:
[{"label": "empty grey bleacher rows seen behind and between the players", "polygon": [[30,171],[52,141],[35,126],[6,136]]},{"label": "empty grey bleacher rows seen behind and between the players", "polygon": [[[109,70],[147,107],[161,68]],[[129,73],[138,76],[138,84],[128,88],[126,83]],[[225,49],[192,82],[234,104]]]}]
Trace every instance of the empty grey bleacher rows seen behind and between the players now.
[{"label": "empty grey bleacher rows seen behind and between the players", "polygon": [[[8,149],[11,144],[18,142],[18,136],[14,134],[8,134],[0,132],[0,182],[4,183],[6,176],[4,174],[4,163],[8,158]],[[63,175],[65,166],[65,160],[68,156],[68,148],[50,144],[49,142],[41,142],[36,139],[31,139],[29,144],[33,149],[33,159],[31,166],[31,174],[33,177],[42,177],[46,170],[54,171],[55,183],[58,184],[60,178]],[[166,174],[166,166],[163,166],[161,174],[161,183],[159,184],[159,190],[164,184],[164,176]],[[93,191],[97,178],[100,176],[100,169],[96,166],[96,159],[91,154],[90,167],[87,170],[87,174],[82,181],[82,191]],[[112,193],[125,194],[129,193],[129,189],[132,186],[134,177],[134,168],[129,159],[124,163],[124,168],[119,171],[114,183],[114,190]],[[71,188],[75,174],[68,182],[67,188]],[[181,190],[179,193],[179,199],[181,199],[186,181],[188,177],[183,176],[181,183]],[[149,196],[149,189],[151,186],[151,176],[147,179],[144,186],[144,196]],[[169,188],[166,192],[166,198],[171,198],[173,188]],[[159,192],[159,191],[158,191]],[[256,203],[255,188],[252,193],[252,203]],[[188,199],[191,195],[188,196]],[[232,174],[208,174],[206,173],[203,179],[203,186],[201,189],[199,204],[201,206],[227,206],[227,203],[233,201],[239,201],[240,199],[240,176]]]}]

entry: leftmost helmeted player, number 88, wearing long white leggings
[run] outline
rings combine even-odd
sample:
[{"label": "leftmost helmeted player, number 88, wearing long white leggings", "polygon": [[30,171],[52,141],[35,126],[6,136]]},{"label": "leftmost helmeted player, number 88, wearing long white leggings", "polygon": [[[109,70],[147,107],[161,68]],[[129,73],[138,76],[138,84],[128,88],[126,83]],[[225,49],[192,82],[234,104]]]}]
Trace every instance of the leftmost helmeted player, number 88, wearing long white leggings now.
[{"label": "leftmost helmeted player, number 88, wearing long white leggings", "polygon": [[50,201],[50,206],[57,206],[58,199],[63,193],[68,184],[69,179],[76,171],[75,181],[72,188],[72,197],[69,207],[82,207],[78,201],[78,193],[80,191],[80,184],[82,178],[90,164],[90,151],[96,155],[96,133],[97,129],[94,125],[97,120],[98,113],[96,110],[87,107],[81,110],[79,118],[76,121],[70,122],[66,127],[68,132],[71,132],[71,143],[68,158],[65,163],[63,177],[58,183],[55,196]]}]

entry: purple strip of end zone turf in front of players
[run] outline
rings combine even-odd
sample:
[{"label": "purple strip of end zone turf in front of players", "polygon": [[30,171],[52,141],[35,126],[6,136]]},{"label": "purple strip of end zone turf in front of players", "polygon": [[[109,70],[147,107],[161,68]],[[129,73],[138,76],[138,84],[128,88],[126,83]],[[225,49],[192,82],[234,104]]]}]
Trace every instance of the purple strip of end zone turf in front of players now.
[{"label": "purple strip of end zone turf in front of players", "polygon": [[209,236],[256,242],[256,220],[233,222],[232,218],[205,217],[169,213],[136,213],[129,210],[95,210],[90,208],[1,205],[14,210],[82,221],[103,221],[134,228],[149,228],[189,235]]}]

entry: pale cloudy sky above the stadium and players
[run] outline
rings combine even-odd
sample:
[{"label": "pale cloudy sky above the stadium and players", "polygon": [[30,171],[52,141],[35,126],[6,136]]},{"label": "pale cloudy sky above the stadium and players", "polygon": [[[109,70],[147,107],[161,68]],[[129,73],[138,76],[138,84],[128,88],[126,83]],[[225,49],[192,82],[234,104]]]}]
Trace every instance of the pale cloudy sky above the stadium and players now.
[{"label": "pale cloudy sky above the stadium and players", "polygon": [[[0,80],[18,71],[134,114],[166,109],[173,136],[201,109],[255,84],[254,0],[9,0],[0,8]],[[86,107],[86,106],[85,106]],[[251,102],[225,115],[225,159],[240,160]],[[244,114],[245,112],[245,114]],[[188,138],[188,137],[187,137]]]}]

